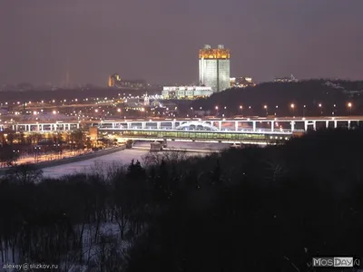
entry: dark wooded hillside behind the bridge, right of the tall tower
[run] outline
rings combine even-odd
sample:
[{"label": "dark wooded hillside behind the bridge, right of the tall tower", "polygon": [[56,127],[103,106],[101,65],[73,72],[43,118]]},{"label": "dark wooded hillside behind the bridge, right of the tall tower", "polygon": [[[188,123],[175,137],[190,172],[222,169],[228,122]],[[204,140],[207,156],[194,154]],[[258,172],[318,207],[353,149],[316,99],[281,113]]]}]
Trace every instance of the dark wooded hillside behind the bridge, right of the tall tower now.
[{"label": "dark wooded hillside behind the bridge, right of the tall tower", "polygon": [[[192,103],[194,109],[212,110],[220,114],[244,115],[347,115],[348,102],[351,114],[363,113],[363,82],[309,80],[299,83],[260,83],[245,89],[232,88],[215,93],[208,99]],[[291,104],[294,104],[294,109]],[[321,107],[319,107],[321,104]],[[336,105],[334,107],[334,104]],[[267,111],[264,106],[267,105]],[[304,105],[305,110],[304,109]],[[242,110],[240,110],[242,106]],[[278,108],[276,108],[278,106]],[[226,107],[226,110],[224,109]]]}]

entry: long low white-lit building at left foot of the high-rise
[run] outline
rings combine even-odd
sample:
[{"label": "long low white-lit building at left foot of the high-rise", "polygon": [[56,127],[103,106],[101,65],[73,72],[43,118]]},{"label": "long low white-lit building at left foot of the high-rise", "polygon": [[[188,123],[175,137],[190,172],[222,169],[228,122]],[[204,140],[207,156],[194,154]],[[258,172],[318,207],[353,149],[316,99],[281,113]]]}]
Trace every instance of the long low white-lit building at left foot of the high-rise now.
[{"label": "long low white-lit building at left foot of the high-rise", "polygon": [[162,97],[164,99],[197,99],[208,97],[213,93],[211,87],[185,86],[185,87],[163,87]]}]

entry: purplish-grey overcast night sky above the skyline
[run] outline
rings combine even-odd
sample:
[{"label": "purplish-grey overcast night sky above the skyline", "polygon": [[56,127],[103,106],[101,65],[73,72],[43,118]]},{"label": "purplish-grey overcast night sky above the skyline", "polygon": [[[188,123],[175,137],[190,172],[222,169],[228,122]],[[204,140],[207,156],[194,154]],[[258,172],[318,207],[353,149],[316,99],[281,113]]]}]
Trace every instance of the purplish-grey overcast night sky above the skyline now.
[{"label": "purplish-grey overcast night sky above the skyline", "polygon": [[204,44],[256,81],[363,76],[363,0],[0,0],[0,83],[197,83]]}]

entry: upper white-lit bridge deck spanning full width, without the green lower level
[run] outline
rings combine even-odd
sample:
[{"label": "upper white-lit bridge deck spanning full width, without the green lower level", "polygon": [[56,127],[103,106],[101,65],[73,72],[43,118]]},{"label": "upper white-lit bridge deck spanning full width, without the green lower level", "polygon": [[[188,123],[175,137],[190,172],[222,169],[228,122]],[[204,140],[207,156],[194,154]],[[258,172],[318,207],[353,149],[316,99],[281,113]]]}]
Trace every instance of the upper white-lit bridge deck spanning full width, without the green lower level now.
[{"label": "upper white-lit bridge deck spanning full width, without the green lower level", "polygon": [[153,119],[109,121],[49,121],[0,123],[0,130],[46,132],[74,131],[97,126],[100,131],[122,130],[176,130],[176,131],[250,131],[294,132],[319,128],[356,127],[363,124],[363,116],[349,117],[280,117],[280,118],[231,118],[231,119]]}]

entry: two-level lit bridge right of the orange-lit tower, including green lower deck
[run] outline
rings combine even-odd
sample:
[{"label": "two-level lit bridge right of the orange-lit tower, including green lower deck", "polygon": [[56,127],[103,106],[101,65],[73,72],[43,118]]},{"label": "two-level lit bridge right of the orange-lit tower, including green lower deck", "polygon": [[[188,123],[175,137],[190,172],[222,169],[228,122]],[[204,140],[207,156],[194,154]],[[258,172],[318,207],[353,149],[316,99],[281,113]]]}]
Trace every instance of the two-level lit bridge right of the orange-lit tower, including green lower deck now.
[{"label": "two-level lit bridge right of the orange-lit tower, including green lower deck", "polygon": [[216,141],[226,143],[268,144],[271,141],[288,140],[295,133],[319,128],[360,126],[361,118],[235,118],[190,120],[136,120],[103,121],[100,131],[119,133],[123,139]]}]

